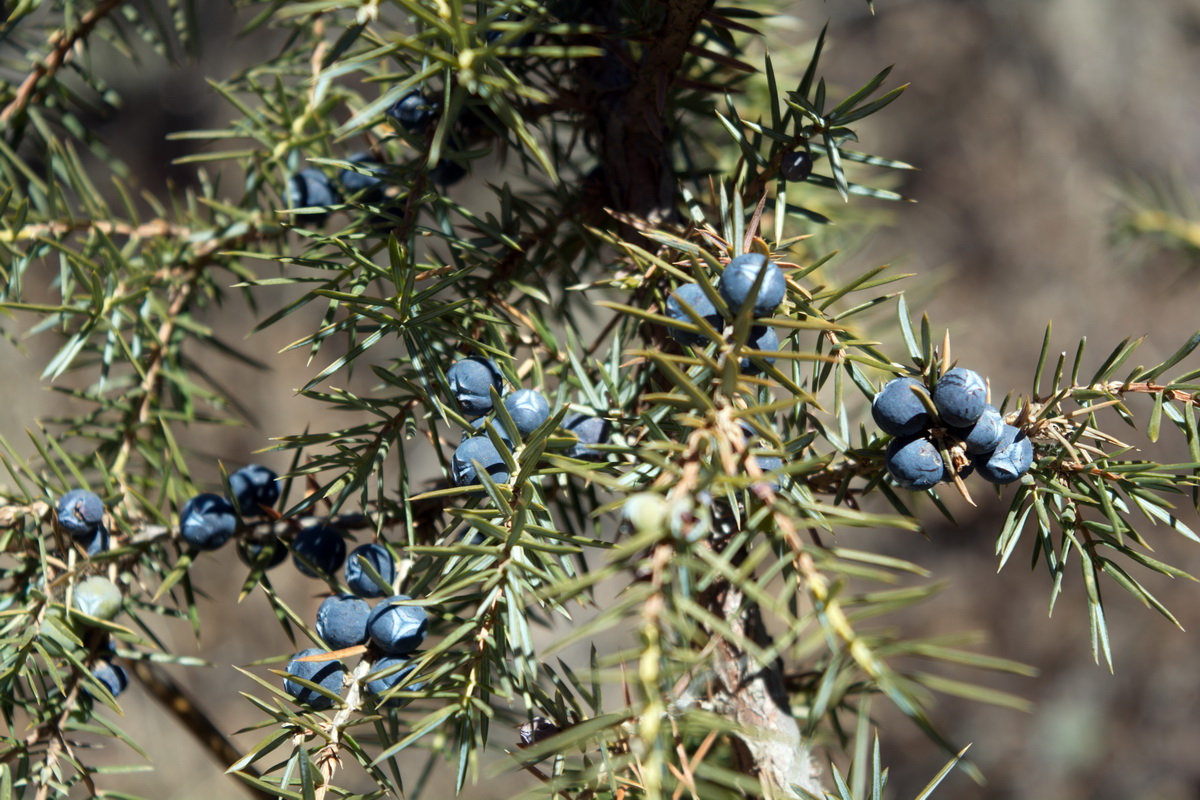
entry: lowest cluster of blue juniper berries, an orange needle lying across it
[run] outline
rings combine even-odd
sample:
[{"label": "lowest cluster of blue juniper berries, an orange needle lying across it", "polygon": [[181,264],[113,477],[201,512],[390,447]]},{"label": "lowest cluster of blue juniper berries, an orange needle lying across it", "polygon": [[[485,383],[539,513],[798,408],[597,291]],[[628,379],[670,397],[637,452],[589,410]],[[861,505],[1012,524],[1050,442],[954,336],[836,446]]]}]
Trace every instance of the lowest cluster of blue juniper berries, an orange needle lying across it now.
[{"label": "lowest cluster of blue juniper berries, an orange needle lying across it", "polygon": [[[367,547],[378,547],[384,553],[388,552],[386,548],[378,545]],[[292,656],[287,666],[288,675],[317,684],[325,692],[305,686],[292,678],[284,679],[284,691],[298,703],[313,709],[330,708],[334,704],[330,694],[341,694],[346,682],[344,662],[341,658],[320,661],[301,661],[301,658],[330,655],[336,650],[366,645],[366,656],[371,660],[371,673],[366,678],[366,690],[374,697],[382,698],[416,668],[413,654],[421,646],[428,630],[428,614],[421,606],[410,604],[409,601],[412,597],[408,595],[392,595],[379,601],[372,608],[361,596],[356,595],[326,597],[317,610],[317,634],[329,645],[330,650],[320,648],[301,650]],[[415,684],[409,688],[410,691],[420,691],[421,687],[422,684]]]}]

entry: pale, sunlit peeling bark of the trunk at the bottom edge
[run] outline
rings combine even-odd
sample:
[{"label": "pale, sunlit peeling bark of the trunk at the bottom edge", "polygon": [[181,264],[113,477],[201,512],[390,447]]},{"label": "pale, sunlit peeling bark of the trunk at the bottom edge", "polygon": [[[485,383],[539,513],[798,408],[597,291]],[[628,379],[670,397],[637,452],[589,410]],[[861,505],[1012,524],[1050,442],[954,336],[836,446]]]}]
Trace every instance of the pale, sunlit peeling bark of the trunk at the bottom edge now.
[{"label": "pale, sunlit peeling bark of the trunk at the bottom edge", "polygon": [[[769,644],[758,607],[736,587],[718,590],[709,607],[736,633],[755,644]],[[820,795],[820,772],[792,716],[778,661],[757,664],[734,643],[721,639],[710,693],[713,710],[743,728],[739,757],[744,771],[762,778],[776,796],[799,796],[793,787]]]}]

